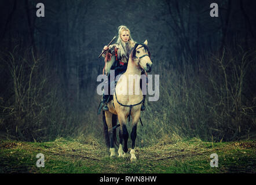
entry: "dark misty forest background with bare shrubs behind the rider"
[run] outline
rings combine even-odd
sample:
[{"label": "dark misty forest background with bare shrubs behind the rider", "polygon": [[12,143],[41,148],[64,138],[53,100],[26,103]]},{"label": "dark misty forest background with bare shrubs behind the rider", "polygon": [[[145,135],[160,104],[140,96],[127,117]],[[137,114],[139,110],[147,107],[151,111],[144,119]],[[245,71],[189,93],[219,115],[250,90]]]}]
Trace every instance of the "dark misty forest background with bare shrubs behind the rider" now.
[{"label": "dark misty forest background with bare shrubs behind the rider", "polygon": [[[36,17],[36,3],[45,17]],[[148,40],[160,98],[146,101],[140,146],[164,136],[255,137],[256,1],[12,0],[0,11],[1,138],[103,139],[101,50],[126,25]]]}]

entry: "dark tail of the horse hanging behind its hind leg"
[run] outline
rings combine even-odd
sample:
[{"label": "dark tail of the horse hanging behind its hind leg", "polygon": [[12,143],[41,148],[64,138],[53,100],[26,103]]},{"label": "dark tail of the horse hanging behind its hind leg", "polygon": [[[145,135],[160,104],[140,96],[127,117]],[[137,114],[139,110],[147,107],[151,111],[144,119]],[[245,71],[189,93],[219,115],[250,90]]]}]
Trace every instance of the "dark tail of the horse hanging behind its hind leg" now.
[{"label": "dark tail of the horse hanging behind its hind leg", "polygon": [[[112,114],[112,127],[115,127],[116,123],[118,122],[118,116],[115,114]],[[109,140],[109,135],[108,135],[108,125],[105,117],[105,111],[103,111],[103,132],[104,132],[104,138],[105,138],[105,143],[107,147],[110,147],[110,140]],[[113,142],[114,145],[118,145],[117,140],[116,140],[116,129],[113,130]]]}]

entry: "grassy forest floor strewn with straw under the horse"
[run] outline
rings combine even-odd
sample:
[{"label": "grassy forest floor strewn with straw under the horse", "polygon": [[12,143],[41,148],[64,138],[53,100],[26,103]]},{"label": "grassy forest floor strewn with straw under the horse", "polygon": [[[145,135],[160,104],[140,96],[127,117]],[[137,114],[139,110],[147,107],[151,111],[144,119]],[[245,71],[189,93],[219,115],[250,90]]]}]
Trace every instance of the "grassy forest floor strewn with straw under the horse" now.
[{"label": "grassy forest floor strewn with straw under the horse", "polygon": [[[43,168],[36,166],[38,153],[44,155]],[[213,153],[218,155],[214,168],[210,166]],[[108,156],[106,147],[94,138],[43,143],[1,140],[0,173],[256,173],[255,140],[163,139],[154,146],[136,148],[136,162],[130,162],[130,156]]]}]

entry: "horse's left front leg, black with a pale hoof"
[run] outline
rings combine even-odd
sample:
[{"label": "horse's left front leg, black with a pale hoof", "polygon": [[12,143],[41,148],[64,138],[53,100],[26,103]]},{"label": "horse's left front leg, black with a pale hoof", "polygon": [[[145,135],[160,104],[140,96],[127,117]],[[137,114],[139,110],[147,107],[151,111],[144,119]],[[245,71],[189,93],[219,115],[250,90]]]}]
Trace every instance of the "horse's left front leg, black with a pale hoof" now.
[{"label": "horse's left front leg, black with a pale hoof", "polygon": [[[123,146],[123,157],[126,157],[127,156],[127,151],[128,151],[128,147],[127,147],[127,141],[128,141],[128,138],[129,138],[129,134],[128,134],[128,131],[127,131],[127,128],[126,128],[126,120],[125,120],[125,116],[123,114],[118,114],[118,120],[119,120],[119,124],[120,124],[120,131],[119,131],[119,137],[120,137],[120,141],[122,140],[122,143],[123,143],[123,140],[124,140],[124,146]],[[121,149],[122,149],[122,145],[120,146],[119,145],[119,150],[120,153],[122,153]],[[120,154],[122,156],[122,154]]]}]

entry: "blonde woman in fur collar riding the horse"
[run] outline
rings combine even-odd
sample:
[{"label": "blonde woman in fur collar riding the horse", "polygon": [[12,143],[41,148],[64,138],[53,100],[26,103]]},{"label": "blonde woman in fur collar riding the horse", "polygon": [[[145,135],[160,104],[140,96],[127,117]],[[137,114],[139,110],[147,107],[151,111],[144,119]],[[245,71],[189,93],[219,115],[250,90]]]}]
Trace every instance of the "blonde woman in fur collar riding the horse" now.
[{"label": "blonde woman in fur collar riding the horse", "polygon": [[[104,67],[106,75],[109,75],[110,69],[115,70],[115,77],[126,71],[131,49],[133,49],[135,44],[136,42],[134,42],[134,40],[131,38],[130,29],[128,29],[125,25],[120,25],[118,27],[117,42],[114,45],[110,45],[109,47],[104,46],[103,48],[103,50],[105,51],[105,53],[103,54],[105,62],[109,62],[110,64],[105,65]],[[103,92],[102,103],[104,111],[108,111],[108,94],[109,93],[104,94]],[[141,110],[145,110],[144,102],[142,103]]]}]

